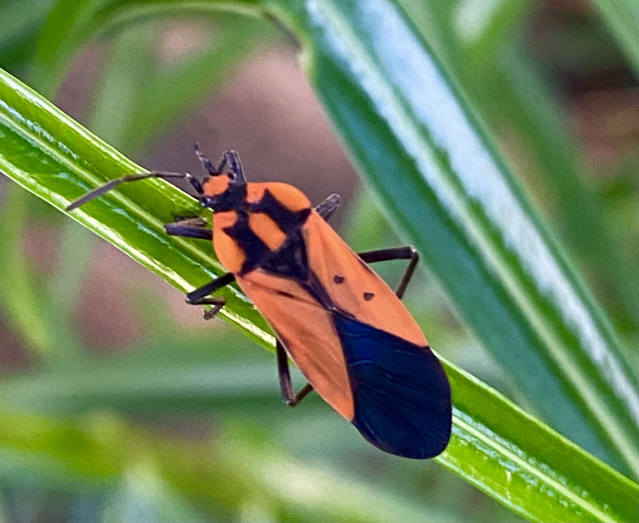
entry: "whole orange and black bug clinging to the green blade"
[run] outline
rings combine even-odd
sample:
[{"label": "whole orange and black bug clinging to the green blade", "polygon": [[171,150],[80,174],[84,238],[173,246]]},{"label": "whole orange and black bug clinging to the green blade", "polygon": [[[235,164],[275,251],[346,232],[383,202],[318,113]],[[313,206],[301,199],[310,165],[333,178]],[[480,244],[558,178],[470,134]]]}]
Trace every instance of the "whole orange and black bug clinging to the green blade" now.
[{"label": "whole orange and black bug clinging to the green blade", "polygon": [[[154,172],[112,180],[75,201],[83,205],[122,182],[183,178],[213,210],[213,230],[197,218],[167,224],[169,235],[213,240],[229,270],[193,292],[187,302],[224,306],[210,297],[236,281],[277,335],[277,366],[284,401],[291,406],[315,389],[374,446],[408,458],[431,458],[450,439],[450,385],[417,322],[400,299],[419,255],[414,247],[355,254],[328,225],[339,205],[332,194],[317,207],[286,183],[247,183],[236,152],[217,166],[196,153],[208,176]],[[224,173],[228,167],[229,172]],[[369,267],[410,260],[397,288]],[[309,383],[293,393],[288,357]]]}]

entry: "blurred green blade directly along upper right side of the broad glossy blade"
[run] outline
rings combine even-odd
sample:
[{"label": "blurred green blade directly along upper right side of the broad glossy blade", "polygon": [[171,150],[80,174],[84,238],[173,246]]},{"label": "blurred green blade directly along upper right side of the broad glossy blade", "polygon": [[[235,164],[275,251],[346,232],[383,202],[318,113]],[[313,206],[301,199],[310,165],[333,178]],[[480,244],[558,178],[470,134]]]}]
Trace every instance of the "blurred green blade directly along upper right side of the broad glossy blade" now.
[{"label": "blurred green blade directly along upper right side of the broad glossy blade", "polygon": [[[506,150],[514,146],[512,168],[518,179],[551,216],[585,270],[596,273],[597,287],[609,299],[614,319],[622,325],[634,324],[636,331],[639,284],[635,264],[619,256],[612,231],[603,223],[603,202],[583,182],[584,162],[569,139],[570,129],[556,93],[544,85],[530,56],[520,50],[516,27],[529,20],[530,6],[520,0],[485,5],[468,1],[429,3],[424,9],[411,0],[399,1],[499,142],[505,143]],[[468,20],[466,11],[477,13],[478,20]],[[511,23],[504,23],[504,18]],[[473,35],[479,33],[469,38],[464,24],[470,24]],[[627,352],[624,350],[626,357]]]}]

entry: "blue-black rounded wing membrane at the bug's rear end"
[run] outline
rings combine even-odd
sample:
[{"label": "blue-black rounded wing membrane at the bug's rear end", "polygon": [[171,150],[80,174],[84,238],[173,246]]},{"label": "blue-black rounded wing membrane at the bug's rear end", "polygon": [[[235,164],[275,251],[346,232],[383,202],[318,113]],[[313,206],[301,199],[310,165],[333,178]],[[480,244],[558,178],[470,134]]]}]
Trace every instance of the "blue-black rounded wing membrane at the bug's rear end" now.
[{"label": "blue-black rounded wing membrane at the bug's rear end", "polygon": [[355,398],[353,425],[374,446],[432,458],[450,439],[450,385],[427,347],[335,314]]}]

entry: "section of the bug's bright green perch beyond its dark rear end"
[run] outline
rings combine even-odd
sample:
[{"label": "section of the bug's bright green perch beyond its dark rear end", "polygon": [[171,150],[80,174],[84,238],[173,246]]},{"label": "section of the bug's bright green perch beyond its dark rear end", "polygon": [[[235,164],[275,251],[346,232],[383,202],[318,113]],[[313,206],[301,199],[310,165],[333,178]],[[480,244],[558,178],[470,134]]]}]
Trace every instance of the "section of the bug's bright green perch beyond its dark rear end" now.
[{"label": "section of the bug's bright green perch beyond its dark rear end", "polygon": [[468,373],[446,371],[456,437],[440,464],[530,521],[636,520],[636,483]]}]

